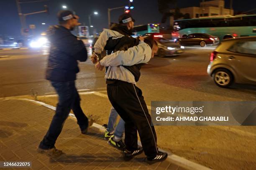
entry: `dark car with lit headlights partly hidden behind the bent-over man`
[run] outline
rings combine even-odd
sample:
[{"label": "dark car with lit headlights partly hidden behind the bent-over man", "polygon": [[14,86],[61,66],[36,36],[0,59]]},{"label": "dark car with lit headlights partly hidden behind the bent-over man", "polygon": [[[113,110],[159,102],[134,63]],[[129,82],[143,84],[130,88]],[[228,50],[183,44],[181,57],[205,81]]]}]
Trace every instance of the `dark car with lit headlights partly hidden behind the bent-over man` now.
[{"label": "dark car with lit headlights partly hidden behind the bent-over man", "polygon": [[157,55],[159,57],[179,55],[184,52],[184,46],[173,43],[161,35],[154,35],[154,40],[158,45]]}]

